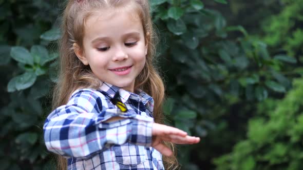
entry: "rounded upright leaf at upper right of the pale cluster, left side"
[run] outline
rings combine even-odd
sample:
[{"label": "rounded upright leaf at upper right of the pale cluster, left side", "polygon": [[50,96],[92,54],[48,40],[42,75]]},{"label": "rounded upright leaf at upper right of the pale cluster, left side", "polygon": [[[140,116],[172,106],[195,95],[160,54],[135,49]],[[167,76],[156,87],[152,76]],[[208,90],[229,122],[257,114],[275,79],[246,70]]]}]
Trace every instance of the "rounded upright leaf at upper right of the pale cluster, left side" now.
[{"label": "rounded upright leaf at upper right of the pale cluster, left side", "polygon": [[44,46],[32,46],[30,49],[30,53],[34,58],[34,62],[43,66],[44,60],[49,58],[48,51]]}]

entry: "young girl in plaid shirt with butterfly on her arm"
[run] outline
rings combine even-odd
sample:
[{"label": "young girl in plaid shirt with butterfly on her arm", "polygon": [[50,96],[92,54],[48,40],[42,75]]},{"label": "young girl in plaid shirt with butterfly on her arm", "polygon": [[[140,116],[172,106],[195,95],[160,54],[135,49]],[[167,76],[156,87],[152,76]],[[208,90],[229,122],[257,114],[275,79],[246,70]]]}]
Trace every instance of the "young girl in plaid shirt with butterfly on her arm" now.
[{"label": "young girl in plaid shirt with butterfly on her arm", "polygon": [[148,0],[69,0],[62,31],[54,111],[44,124],[61,169],[176,168],[169,145],[200,139],[159,124],[164,86]]}]

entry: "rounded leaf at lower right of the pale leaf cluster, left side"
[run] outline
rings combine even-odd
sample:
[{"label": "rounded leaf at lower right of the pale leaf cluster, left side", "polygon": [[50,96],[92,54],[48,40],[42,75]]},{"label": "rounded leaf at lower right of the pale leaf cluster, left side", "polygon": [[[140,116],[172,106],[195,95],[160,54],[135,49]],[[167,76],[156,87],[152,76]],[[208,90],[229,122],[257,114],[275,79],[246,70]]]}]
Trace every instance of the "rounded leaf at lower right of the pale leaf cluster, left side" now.
[{"label": "rounded leaf at lower right of the pale leaf cluster, left side", "polygon": [[19,91],[31,87],[36,78],[37,76],[33,72],[25,72],[24,74],[17,76],[15,80],[16,89]]}]

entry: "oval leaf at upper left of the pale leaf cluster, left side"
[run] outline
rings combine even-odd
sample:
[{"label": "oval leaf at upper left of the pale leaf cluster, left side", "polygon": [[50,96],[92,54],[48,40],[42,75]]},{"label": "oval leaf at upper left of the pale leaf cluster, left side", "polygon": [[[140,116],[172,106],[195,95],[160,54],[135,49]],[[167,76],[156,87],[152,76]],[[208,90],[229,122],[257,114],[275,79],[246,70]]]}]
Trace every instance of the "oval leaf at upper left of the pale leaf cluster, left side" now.
[{"label": "oval leaf at upper left of the pale leaf cluster, left side", "polygon": [[33,57],[30,55],[29,51],[25,49],[24,47],[12,47],[10,51],[10,55],[13,59],[15,59],[18,62],[33,65]]}]

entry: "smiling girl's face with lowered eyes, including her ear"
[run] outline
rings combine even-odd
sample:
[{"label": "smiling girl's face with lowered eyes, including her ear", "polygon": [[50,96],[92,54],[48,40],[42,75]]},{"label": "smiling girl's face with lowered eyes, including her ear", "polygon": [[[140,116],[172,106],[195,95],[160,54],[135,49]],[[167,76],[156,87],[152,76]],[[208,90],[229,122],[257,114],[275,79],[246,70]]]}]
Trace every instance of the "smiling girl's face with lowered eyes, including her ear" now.
[{"label": "smiling girl's face with lowered eyes, including her ear", "polygon": [[126,10],[96,12],[85,22],[83,49],[74,44],[74,51],[101,81],[134,92],[147,54],[141,20]]}]

